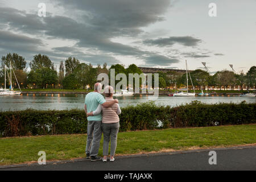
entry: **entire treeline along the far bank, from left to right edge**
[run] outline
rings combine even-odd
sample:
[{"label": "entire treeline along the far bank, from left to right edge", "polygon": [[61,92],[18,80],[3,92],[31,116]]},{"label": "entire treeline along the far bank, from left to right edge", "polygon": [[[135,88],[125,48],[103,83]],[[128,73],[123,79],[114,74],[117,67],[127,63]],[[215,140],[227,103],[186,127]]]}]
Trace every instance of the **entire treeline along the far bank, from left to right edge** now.
[{"label": "entire treeline along the far bank, from left to right edge", "polygon": [[[68,57],[67,60],[61,61],[59,65],[59,71],[57,67],[52,63],[46,55],[35,55],[33,60],[29,63],[30,71],[27,71],[27,62],[24,57],[19,56],[16,53],[8,53],[2,57],[2,68],[0,70],[0,84],[3,87],[4,84],[4,65],[10,67],[10,62],[15,71],[15,75],[19,81],[21,88],[64,88],[64,89],[85,89],[87,85],[93,88],[95,82],[97,82],[97,76],[100,73],[106,73],[110,75],[110,69],[115,69],[115,76],[118,73],[142,73],[135,64],[131,64],[128,68],[124,65],[115,64],[111,65],[110,69],[107,68],[107,64],[98,64],[96,68],[93,68],[92,64],[81,63],[80,60],[75,57]],[[181,88],[186,86],[186,74],[170,71],[167,73],[159,73],[159,87],[164,88]],[[153,75],[154,82],[154,75]],[[207,86],[218,89],[228,89],[238,86],[240,89],[255,88],[256,82],[256,67],[253,66],[247,73],[241,72],[235,74],[232,71],[218,71],[214,75],[210,75],[208,72],[201,69],[196,69],[191,72],[191,79],[196,89],[205,89]],[[116,84],[119,81],[115,81]],[[127,80],[128,82],[128,80]],[[7,86],[9,86],[7,82]],[[13,79],[14,87],[18,87]],[[192,83],[189,79],[189,88],[192,89]]]}]

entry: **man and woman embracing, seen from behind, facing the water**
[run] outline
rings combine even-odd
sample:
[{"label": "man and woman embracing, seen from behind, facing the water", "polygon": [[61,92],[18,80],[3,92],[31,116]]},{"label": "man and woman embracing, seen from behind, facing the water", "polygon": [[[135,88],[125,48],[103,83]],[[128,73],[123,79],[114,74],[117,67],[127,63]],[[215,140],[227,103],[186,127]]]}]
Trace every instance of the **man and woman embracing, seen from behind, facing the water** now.
[{"label": "man and woman embracing, seen from behind, facing the water", "polygon": [[104,135],[103,162],[107,162],[110,144],[110,161],[113,162],[115,149],[117,148],[117,134],[119,130],[119,117],[121,109],[118,100],[113,99],[113,87],[104,88],[105,98],[100,94],[102,85],[97,82],[94,85],[94,92],[90,92],[85,97],[85,113],[87,115],[87,143],[86,159],[91,161],[101,160],[98,156],[100,148],[101,134]]}]

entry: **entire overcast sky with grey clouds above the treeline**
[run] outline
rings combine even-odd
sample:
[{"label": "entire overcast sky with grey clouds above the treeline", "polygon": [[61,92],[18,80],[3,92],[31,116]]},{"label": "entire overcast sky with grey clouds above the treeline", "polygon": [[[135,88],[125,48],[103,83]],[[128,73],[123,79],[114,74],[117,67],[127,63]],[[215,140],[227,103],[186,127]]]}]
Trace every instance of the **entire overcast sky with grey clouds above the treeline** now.
[{"label": "entire overcast sky with grey clouds above the treeline", "polygon": [[255,10],[255,0],[0,0],[0,56],[179,69],[187,59],[189,69],[204,61],[212,72],[246,72],[256,62]]}]

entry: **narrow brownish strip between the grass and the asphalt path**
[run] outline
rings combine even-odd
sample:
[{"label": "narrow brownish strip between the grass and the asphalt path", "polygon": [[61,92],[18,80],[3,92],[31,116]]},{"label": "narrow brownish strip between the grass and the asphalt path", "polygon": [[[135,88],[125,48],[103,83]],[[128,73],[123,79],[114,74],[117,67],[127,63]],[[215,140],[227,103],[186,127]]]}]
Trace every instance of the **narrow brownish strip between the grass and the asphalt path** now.
[{"label": "narrow brownish strip between the grass and the asphalt path", "polygon": [[[217,148],[204,148],[204,149],[198,149],[198,150],[182,150],[182,151],[172,151],[172,152],[154,152],[154,153],[146,153],[146,154],[131,154],[131,155],[119,155],[115,156],[115,159],[123,159],[123,158],[139,158],[143,156],[158,156],[158,155],[173,155],[173,154],[186,154],[186,153],[192,153],[192,152],[205,152],[205,151],[218,151],[218,150],[240,150],[243,148],[256,148],[254,144],[252,145],[243,145],[243,146],[233,146],[233,147],[217,147]],[[51,161],[47,162],[48,164],[61,164],[61,163],[75,163],[75,162],[82,162],[89,159],[81,158],[81,159],[73,159],[73,160],[57,160],[57,161]],[[6,169],[6,168],[18,168],[18,167],[27,167],[27,166],[40,166],[38,163],[32,163],[32,164],[13,164],[13,165],[6,165],[6,166],[0,166],[0,169]]]}]

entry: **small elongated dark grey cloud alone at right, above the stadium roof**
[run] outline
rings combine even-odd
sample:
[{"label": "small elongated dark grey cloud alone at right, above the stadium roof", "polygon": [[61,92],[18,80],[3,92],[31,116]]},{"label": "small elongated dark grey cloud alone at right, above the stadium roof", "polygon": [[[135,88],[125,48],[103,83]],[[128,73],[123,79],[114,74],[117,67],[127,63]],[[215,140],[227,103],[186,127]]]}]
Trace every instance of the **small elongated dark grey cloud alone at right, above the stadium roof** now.
[{"label": "small elongated dark grey cloud alone at right, above the stadium roof", "polygon": [[201,39],[192,36],[170,36],[169,38],[146,39],[143,41],[144,44],[159,47],[173,46],[175,43],[183,46],[197,46],[200,42]]}]

